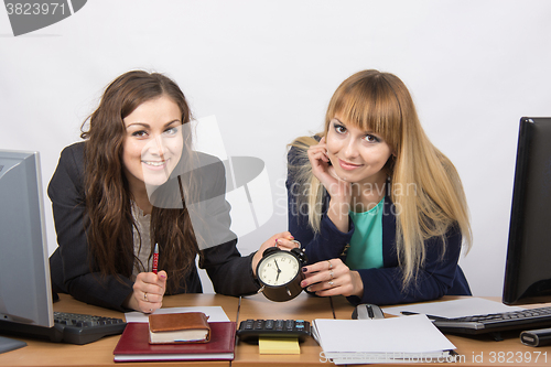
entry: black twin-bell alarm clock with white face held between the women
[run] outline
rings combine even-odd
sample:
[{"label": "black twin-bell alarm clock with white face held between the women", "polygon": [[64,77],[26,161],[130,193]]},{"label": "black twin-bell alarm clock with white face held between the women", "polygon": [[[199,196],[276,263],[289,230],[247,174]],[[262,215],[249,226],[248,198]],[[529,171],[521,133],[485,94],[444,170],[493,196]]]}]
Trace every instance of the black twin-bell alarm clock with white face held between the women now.
[{"label": "black twin-bell alarm clock with white face held between the women", "polygon": [[262,285],[259,292],[276,302],[294,299],[302,292],[302,267],[305,262],[304,249],[285,251],[278,247],[267,248],[257,266],[257,278]]}]

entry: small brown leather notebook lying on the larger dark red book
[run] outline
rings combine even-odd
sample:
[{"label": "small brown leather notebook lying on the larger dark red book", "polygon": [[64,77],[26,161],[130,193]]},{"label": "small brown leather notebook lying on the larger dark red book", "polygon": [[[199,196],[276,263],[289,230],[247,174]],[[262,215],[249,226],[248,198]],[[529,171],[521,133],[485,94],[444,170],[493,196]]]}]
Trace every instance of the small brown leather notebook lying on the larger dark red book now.
[{"label": "small brown leather notebook lying on the larger dark red book", "polygon": [[210,341],[208,316],[203,312],[184,312],[149,315],[149,342],[207,343]]}]

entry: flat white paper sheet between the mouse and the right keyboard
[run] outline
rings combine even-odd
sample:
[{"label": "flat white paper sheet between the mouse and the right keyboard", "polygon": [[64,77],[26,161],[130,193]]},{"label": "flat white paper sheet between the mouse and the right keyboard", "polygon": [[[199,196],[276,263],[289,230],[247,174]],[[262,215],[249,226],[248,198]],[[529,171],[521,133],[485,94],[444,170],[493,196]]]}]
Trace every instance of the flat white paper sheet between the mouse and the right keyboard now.
[{"label": "flat white paper sheet between the mouse and the right keyboard", "polygon": [[486,315],[490,313],[512,312],[519,310],[523,309],[517,306],[508,306],[503,304],[501,302],[490,301],[476,296],[469,296],[454,301],[402,304],[393,307],[382,307],[382,312],[391,315],[400,316],[401,312],[406,311],[447,319],[472,315]]}]

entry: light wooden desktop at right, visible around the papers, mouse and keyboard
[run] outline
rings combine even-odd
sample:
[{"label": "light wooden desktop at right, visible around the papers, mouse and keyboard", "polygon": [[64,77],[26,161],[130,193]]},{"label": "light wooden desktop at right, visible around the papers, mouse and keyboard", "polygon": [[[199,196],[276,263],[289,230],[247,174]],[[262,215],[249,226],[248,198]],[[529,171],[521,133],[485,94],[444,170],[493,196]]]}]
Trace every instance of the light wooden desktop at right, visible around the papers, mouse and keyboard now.
[{"label": "light wooden desktop at right, visible around the papers, mouse and keyboard", "polygon": [[[441,301],[451,301],[460,296],[444,296]],[[488,298],[500,302],[499,298]],[[344,296],[332,298],[335,319],[350,319],[354,307]],[[542,304],[526,305],[539,307]],[[494,341],[489,335],[460,336],[446,334],[446,337],[457,348],[462,366],[551,366],[551,346],[529,347],[520,343],[519,332],[504,333],[501,342]],[[536,359],[538,360],[536,361]],[[414,366],[434,366],[434,364],[413,364]],[[355,365],[358,366],[358,365]],[[410,366],[412,366],[410,364]]]}]

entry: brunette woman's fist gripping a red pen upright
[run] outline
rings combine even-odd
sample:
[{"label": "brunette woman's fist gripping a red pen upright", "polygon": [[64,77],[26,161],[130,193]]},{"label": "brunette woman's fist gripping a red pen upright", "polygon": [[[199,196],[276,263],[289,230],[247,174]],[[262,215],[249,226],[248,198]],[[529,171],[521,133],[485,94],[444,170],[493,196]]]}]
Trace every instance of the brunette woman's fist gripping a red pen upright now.
[{"label": "brunette woman's fist gripping a red pen upright", "polygon": [[163,295],[166,290],[166,272],[140,272],[136,277],[133,292],[125,302],[126,306],[143,313],[152,313],[163,305]]}]

